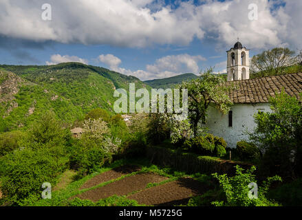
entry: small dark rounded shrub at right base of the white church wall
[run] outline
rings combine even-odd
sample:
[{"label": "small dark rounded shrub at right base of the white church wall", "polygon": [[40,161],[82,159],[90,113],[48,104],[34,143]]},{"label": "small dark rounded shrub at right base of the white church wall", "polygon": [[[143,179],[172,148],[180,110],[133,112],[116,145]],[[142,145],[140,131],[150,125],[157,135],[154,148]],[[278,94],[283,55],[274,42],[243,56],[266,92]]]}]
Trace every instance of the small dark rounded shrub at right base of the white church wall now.
[{"label": "small dark rounded shrub at right base of the white church wall", "polygon": [[240,159],[250,160],[260,157],[259,148],[255,144],[246,141],[237,142],[237,153]]}]

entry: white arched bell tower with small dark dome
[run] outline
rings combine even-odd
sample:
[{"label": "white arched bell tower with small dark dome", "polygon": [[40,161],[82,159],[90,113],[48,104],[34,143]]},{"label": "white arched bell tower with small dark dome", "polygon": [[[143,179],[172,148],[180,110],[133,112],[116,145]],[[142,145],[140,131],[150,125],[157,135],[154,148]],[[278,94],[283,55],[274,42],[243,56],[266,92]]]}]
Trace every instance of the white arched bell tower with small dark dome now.
[{"label": "white arched bell tower with small dark dome", "polygon": [[238,39],[234,47],[226,53],[228,55],[226,62],[228,81],[250,79],[250,50],[243,47]]}]

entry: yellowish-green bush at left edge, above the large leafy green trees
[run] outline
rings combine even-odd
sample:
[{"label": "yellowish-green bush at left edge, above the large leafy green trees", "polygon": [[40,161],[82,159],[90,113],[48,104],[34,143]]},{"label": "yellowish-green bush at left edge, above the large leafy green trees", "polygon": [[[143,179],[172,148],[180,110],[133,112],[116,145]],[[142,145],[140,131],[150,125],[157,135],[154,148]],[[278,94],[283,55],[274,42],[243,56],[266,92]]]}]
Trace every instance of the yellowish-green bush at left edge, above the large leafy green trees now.
[{"label": "yellowish-green bush at left edge, above the large leafy green trees", "polygon": [[19,140],[25,137],[22,131],[10,131],[0,134],[0,156],[6,155],[20,147]]}]

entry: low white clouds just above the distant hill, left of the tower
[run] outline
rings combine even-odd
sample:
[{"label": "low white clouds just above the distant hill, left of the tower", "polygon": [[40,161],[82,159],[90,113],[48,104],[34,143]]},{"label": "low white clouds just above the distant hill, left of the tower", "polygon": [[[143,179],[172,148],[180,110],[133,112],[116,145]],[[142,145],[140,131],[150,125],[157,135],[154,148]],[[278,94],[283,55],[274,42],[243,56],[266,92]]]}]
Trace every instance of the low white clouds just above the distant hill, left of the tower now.
[{"label": "low white clouds just above the distant hill, left of the tower", "polygon": [[120,67],[122,61],[112,54],[102,54],[98,56],[98,61],[105,63],[109,69],[119,72],[120,74],[136,76],[140,78],[140,80],[151,80],[188,72],[197,74],[199,72],[198,62],[206,61],[206,58],[188,54],[164,56],[157,59],[153,65],[147,65],[146,70],[138,69],[136,71]]}]

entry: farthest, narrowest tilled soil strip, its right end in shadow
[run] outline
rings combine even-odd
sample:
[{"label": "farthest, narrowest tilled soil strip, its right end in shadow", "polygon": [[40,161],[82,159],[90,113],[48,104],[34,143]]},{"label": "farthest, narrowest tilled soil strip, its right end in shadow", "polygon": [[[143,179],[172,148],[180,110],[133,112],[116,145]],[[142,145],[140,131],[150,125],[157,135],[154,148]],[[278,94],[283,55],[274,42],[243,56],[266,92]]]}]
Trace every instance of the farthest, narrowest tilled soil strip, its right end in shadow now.
[{"label": "farthest, narrowest tilled soil strip, its right end in shadow", "polygon": [[136,165],[125,165],[125,166],[120,166],[118,168],[114,168],[112,170],[108,170],[86,181],[85,184],[83,184],[83,186],[80,187],[80,190],[84,188],[90,188],[92,186],[97,186],[98,184],[105,183],[106,181],[109,181],[111,179],[116,179],[123,175],[136,172],[138,170],[140,170],[140,166],[136,166]]}]

